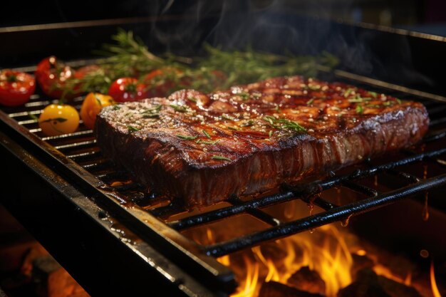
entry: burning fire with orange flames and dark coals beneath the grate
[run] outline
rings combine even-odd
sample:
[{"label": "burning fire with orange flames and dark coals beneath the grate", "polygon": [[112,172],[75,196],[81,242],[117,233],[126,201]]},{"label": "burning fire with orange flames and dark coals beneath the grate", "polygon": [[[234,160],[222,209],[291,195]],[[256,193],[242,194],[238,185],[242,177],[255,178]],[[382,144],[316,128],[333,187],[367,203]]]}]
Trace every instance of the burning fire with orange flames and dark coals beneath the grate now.
[{"label": "burning fire with orange flames and dark coals beneath the grate", "polygon": [[[200,244],[214,244],[244,226],[255,228],[244,216],[231,227],[215,226],[187,233]],[[441,296],[433,269],[430,279],[427,273],[421,278],[407,259],[365,244],[348,229],[336,226],[340,224],[220,257],[218,261],[230,266],[239,281],[232,297]],[[432,291],[430,281],[435,283]]]}]

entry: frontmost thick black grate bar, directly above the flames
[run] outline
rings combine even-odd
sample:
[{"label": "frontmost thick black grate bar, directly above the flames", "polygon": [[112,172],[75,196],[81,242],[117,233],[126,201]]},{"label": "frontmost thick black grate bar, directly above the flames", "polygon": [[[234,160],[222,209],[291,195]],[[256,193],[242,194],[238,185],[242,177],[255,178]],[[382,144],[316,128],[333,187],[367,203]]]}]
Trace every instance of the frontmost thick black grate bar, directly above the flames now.
[{"label": "frontmost thick black grate bar, directly above the flames", "polygon": [[409,186],[395,189],[385,194],[380,194],[377,197],[352,202],[350,204],[343,205],[342,207],[336,207],[335,209],[314,214],[304,219],[298,219],[280,226],[271,227],[270,229],[254,232],[247,236],[241,236],[237,239],[206,246],[204,247],[204,252],[208,256],[224,256],[234,251],[239,251],[250,246],[258,245],[264,241],[279,239],[284,236],[289,236],[291,234],[313,229],[318,226],[347,219],[353,215],[370,212],[373,209],[397,202],[399,199],[425,192],[435,187],[440,187],[444,185],[445,182],[446,174],[441,174],[430,179],[423,179],[416,184],[410,184]]}]

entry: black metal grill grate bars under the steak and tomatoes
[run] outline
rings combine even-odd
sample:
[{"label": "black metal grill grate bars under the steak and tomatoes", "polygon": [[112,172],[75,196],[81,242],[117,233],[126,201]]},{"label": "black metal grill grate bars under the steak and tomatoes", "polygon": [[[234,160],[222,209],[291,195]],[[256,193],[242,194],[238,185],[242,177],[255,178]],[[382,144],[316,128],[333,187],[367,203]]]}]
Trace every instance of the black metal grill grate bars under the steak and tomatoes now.
[{"label": "black metal grill grate bars under the steak and tomatoes", "polygon": [[[351,81],[349,82],[351,83]],[[370,85],[361,82],[360,78],[358,78],[355,84],[364,88],[373,89],[373,87],[370,88]],[[413,95],[409,93],[402,93],[401,91],[395,90],[396,88],[389,92],[388,90],[383,90],[383,88],[375,88],[375,91],[395,95],[398,98],[413,98]],[[446,98],[443,99],[446,102]],[[82,98],[76,98],[73,102],[73,105],[78,109],[80,108],[79,103],[81,100]],[[157,197],[155,194],[144,194],[143,188],[140,184],[133,182],[129,172],[116,168],[112,161],[103,157],[96,146],[93,131],[86,129],[83,125],[80,126],[77,132],[69,135],[54,137],[45,137],[42,135],[41,130],[38,128],[38,123],[36,120],[31,119],[29,115],[39,115],[41,108],[50,103],[43,96],[33,95],[31,101],[25,105],[25,108],[5,108],[4,110],[19,125],[26,127],[30,132],[41,137],[42,140],[48,142],[48,144],[52,145],[56,150],[60,151],[78,165],[81,165],[81,167],[93,174],[96,178],[105,182],[105,184],[109,184],[110,187],[128,199],[128,201],[138,204],[142,209],[152,214],[152,216],[165,222],[171,229],[181,232],[191,227],[217,222],[239,214],[249,214],[251,217],[255,217],[269,226],[261,231],[239,236],[217,244],[199,246],[207,256],[217,257],[249,246],[261,244],[264,241],[279,239],[283,236],[313,229],[323,224],[349,219],[353,215],[368,212],[396,202],[399,199],[426,192],[446,184],[446,174],[425,179],[416,177],[402,169],[405,165],[413,165],[420,162],[422,164],[435,163],[442,167],[446,165],[446,161],[440,158],[442,155],[446,155],[446,148],[430,150],[431,144],[435,144],[439,140],[444,140],[446,135],[446,128],[443,127],[446,123],[446,117],[442,116],[442,113],[446,110],[446,103],[440,100],[425,98],[420,99],[420,101],[425,104],[431,118],[430,132],[421,145],[421,152],[406,150],[403,152],[405,155],[398,157],[397,160],[383,162],[378,165],[374,165],[372,161],[366,160],[359,169],[357,167],[351,167],[348,169],[349,172],[344,174],[330,172],[329,177],[326,179],[316,180],[294,187],[283,184],[277,194],[269,194],[256,199],[244,200],[239,197],[230,197],[219,208],[208,211],[204,209],[204,212],[199,214],[185,214],[185,209],[182,209],[178,204],[168,202],[165,199]],[[435,147],[435,145],[432,145],[432,147]],[[380,192],[374,187],[368,187],[361,183],[362,179],[370,178],[380,173],[393,175],[404,182],[405,185],[388,192]],[[365,198],[350,204],[337,205],[319,196],[321,192],[336,187],[351,189],[353,192],[358,192]],[[265,207],[271,207],[297,199],[319,207],[322,212],[308,215],[308,217],[291,222],[281,222],[280,219],[263,210]],[[185,217],[176,219],[175,221],[169,221],[169,217],[176,214],[182,214]]]}]

